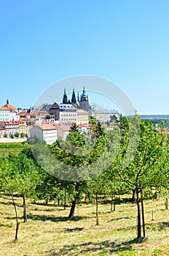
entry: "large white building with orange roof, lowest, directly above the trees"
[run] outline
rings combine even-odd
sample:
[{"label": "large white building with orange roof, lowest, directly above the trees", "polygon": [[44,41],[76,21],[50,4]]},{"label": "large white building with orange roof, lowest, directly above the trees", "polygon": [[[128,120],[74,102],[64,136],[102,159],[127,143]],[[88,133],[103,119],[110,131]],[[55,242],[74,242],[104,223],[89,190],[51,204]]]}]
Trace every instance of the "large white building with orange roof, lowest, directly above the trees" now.
[{"label": "large white building with orange roof, lowest, directly above the trees", "polygon": [[30,139],[38,138],[52,144],[58,140],[58,131],[52,124],[39,124],[29,129]]}]

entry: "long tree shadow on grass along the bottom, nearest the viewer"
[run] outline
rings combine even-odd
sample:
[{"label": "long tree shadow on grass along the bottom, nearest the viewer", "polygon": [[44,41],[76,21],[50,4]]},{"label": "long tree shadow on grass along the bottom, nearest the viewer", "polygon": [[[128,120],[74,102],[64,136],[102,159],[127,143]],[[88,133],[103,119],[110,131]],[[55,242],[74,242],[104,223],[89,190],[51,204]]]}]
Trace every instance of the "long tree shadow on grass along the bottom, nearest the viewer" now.
[{"label": "long tree shadow on grass along the bottom, nearest the viewer", "polygon": [[110,253],[132,251],[133,244],[141,244],[145,240],[146,238],[133,239],[121,244],[116,244],[114,242],[110,242],[109,240],[102,241],[101,243],[88,242],[83,244],[74,244],[71,246],[63,246],[63,248],[59,249],[58,252],[50,251],[46,255],[82,255],[89,252],[103,252],[104,249],[109,249]]}]

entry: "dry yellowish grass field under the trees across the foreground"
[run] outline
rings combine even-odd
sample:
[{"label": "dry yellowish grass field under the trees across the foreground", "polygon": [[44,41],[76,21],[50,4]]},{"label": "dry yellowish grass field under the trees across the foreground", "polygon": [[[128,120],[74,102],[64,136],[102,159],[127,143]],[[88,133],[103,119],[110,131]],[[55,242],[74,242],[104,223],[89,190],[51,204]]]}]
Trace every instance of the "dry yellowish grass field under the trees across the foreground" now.
[{"label": "dry yellowish grass field under the trees across the foreground", "polygon": [[[0,255],[169,255],[169,211],[164,198],[145,202],[146,239],[137,241],[136,206],[99,206],[99,226],[95,225],[95,206],[76,208],[74,221],[68,210],[44,206],[28,200],[28,222],[23,223],[22,198],[15,197],[20,227],[15,238],[15,212],[10,197],[0,197]],[[152,221],[152,210],[154,221]]]}]

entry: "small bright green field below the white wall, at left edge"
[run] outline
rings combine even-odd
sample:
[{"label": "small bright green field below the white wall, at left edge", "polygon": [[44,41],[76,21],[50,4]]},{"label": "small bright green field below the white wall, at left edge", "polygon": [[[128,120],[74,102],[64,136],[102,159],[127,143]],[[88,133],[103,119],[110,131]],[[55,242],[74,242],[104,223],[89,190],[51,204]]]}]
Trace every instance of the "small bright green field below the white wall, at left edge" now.
[{"label": "small bright green field below the white wall, at left edge", "polygon": [[0,157],[7,157],[9,153],[18,154],[23,147],[23,143],[0,143]]}]

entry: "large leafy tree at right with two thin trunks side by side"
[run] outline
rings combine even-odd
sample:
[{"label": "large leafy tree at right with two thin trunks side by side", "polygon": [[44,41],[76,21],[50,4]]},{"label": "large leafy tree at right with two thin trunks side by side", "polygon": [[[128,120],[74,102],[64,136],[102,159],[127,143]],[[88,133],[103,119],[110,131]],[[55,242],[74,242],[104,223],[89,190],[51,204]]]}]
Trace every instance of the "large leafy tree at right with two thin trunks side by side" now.
[{"label": "large leafy tree at right with two thin trunks side by side", "polygon": [[[126,152],[128,143],[128,128],[126,120],[123,120],[121,124],[122,130],[122,151],[119,154],[119,163],[123,162],[123,157]],[[119,164],[119,176],[130,189],[135,190],[136,205],[138,211],[138,238],[141,237],[141,213],[143,222],[143,233],[145,235],[144,226],[144,190],[152,188],[152,181],[150,179],[153,176],[154,166],[162,159],[164,153],[164,145],[166,140],[162,137],[161,133],[154,129],[150,121],[140,121],[140,140],[138,143],[137,151],[135,152],[134,159],[130,162],[130,165],[123,168]],[[141,203],[141,206],[140,206]],[[142,211],[141,211],[142,210]]]}]

